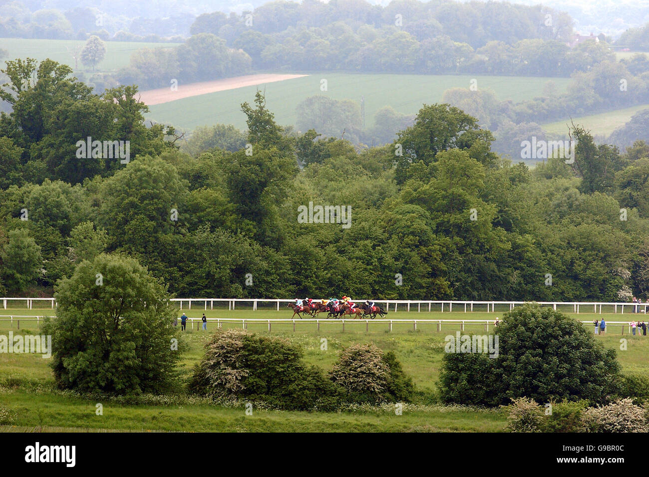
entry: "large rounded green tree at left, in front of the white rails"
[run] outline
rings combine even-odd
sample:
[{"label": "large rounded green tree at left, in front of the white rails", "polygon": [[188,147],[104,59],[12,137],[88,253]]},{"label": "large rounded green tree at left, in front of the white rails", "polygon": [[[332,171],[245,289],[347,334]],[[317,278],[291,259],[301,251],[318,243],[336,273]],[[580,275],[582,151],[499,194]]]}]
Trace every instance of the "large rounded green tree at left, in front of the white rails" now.
[{"label": "large rounded green tree at left, in front of the white rails", "polygon": [[136,260],[101,254],[55,287],[56,384],[82,393],[162,393],[180,360],[166,287]]}]

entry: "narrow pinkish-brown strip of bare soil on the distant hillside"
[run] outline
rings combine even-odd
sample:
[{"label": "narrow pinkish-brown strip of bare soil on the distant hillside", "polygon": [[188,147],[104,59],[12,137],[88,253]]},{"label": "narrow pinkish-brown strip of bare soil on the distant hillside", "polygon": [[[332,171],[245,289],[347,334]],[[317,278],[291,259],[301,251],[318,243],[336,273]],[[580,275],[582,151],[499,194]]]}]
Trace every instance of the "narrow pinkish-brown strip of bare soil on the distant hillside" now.
[{"label": "narrow pinkish-brown strip of bare soil on the distant hillside", "polygon": [[178,84],[178,89],[160,88],[158,90],[147,90],[140,92],[140,101],[149,106],[153,104],[169,103],[177,99],[198,96],[217,91],[234,90],[243,86],[254,86],[256,84],[272,83],[287,79],[300,78],[307,75],[275,75],[273,73],[261,75],[245,75],[234,78],[224,78],[214,81],[203,81],[200,83]]}]

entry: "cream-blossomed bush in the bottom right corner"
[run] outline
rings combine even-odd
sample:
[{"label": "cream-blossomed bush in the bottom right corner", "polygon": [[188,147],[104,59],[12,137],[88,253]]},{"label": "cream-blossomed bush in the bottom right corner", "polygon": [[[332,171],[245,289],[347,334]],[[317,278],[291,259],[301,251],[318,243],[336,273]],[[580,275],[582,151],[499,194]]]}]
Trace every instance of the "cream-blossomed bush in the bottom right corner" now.
[{"label": "cream-blossomed bush in the bottom right corner", "polygon": [[584,412],[584,422],[590,432],[649,432],[646,411],[635,406],[631,398],[589,408]]}]

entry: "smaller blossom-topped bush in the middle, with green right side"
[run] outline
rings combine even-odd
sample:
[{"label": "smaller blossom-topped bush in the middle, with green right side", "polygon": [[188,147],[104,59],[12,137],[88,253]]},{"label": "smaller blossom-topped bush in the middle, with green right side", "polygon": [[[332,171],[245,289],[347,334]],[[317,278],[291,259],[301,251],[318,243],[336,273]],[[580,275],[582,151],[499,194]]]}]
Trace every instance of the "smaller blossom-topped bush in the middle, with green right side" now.
[{"label": "smaller blossom-topped bush in the middle, with green right side", "polygon": [[341,352],[329,377],[343,387],[349,402],[410,402],[414,385],[394,353],[374,345],[352,345]]}]

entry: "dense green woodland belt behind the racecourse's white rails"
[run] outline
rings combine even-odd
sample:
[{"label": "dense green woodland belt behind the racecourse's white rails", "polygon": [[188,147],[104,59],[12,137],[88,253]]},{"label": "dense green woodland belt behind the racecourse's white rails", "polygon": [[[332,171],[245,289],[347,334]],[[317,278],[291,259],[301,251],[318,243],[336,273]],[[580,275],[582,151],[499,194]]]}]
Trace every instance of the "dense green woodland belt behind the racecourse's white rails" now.
[{"label": "dense green woodland belt behind the racecourse's white rails", "polygon": [[[96,95],[51,60],[10,61],[4,72],[3,295],[50,293],[102,251],[137,258],[180,297],[649,292],[645,143],[620,154],[575,125],[574,164],[530,170],[493,153],[493,134],[474,117],[430,104],[394,143],[358,152],[280,127],[258,93],[241,105],[243,137],[204,130],[189,154],[173,128],[145,127],[136,86]],[[79,158],[88,136],[130,141],[130,162]],[[310,201],[349,206],[351,226],[299,223]]]}]

